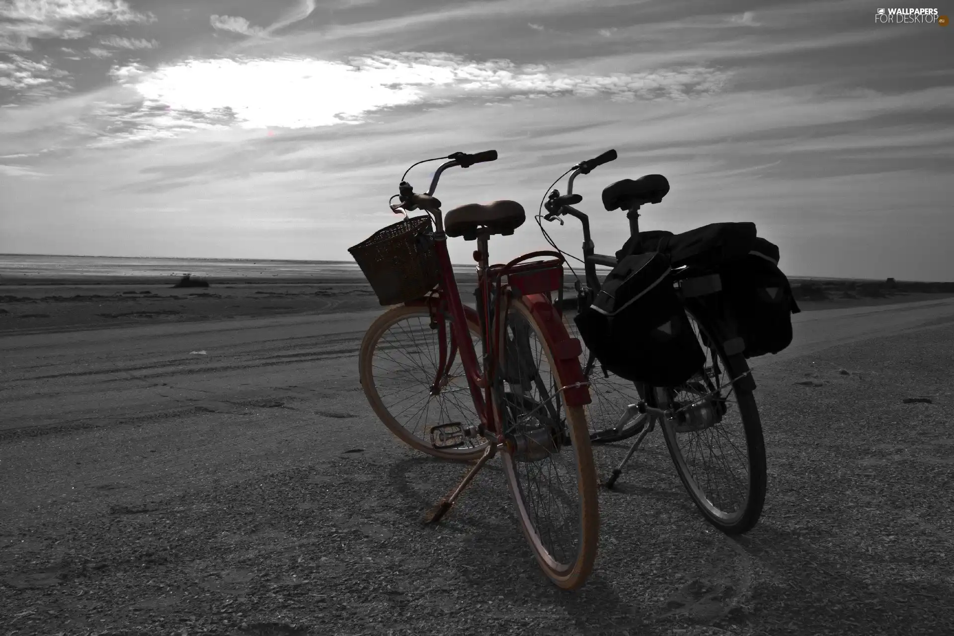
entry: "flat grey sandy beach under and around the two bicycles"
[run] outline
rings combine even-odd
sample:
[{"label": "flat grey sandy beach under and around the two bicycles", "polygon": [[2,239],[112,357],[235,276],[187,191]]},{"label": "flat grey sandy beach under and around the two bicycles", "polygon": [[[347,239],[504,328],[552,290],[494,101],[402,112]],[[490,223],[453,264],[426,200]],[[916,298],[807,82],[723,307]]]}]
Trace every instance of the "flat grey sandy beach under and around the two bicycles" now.
[{"label": "flat grey sandy beach under and around the two bicycles", "polygon": [[[422,527],[463,468],[406,449],[371,412],[357,351],[382,309],[362,281],[8,282],[5,633],[954,628],[943,294],[803,302],[792,346],[752,360],[769,457],[757,527],[733,541],[704,523],[653,435],[601,494],[591,582],[561,594],[497,465]],[[604,476],[625,450],[596,450]]]}]

